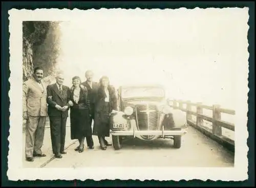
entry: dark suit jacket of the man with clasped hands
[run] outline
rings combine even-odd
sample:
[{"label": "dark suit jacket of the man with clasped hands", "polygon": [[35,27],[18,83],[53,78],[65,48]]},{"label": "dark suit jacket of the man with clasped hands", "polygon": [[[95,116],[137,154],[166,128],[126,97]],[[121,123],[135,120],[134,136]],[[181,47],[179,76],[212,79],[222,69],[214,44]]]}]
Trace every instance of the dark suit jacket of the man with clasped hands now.
[{"label": "dark suit jacket of the man with clasped hands", "polygon": [[69,116],[69,108],[62,112],[55,108],[55,105],[68,106],[70,101],[70,89],[68,86],[62,85],[62,97],[60,96],[59,89],[56,83],[47,86],[47,103],[48,103],[48,114],[49,116]]}]

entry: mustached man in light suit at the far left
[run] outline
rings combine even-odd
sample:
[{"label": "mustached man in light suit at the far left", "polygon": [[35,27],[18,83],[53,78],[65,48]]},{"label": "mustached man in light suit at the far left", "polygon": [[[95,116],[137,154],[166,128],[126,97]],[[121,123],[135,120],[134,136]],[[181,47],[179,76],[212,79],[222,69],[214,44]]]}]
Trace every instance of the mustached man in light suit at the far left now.
[{"label": "mustached man in light suit at the far left", "polygon": [[26,125],[26,160],[45,157],[41,147],[44,140],[47,117],[46,85],[41,81],[44,73],[41,67],[34,69],[33,78],[23,83],[23,118]]}]

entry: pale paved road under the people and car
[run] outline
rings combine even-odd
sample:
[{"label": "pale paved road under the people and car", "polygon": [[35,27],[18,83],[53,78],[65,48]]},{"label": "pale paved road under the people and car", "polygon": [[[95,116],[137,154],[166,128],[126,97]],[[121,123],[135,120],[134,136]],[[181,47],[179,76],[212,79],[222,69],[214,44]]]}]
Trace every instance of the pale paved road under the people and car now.
[{"label": "pale paved road under the people and car", "polygon": [[[78,145],[70,139],[67,127],[66,151],[63,158],[54,158],[51,153],[50,130],[46,129],[43,151],[47,157],[24,162],[29,168],[81,168],[81,167],[233,167],[234,154],[193,127],[187,128],[182,147],[173,148],[172,139],[157,139],[146,142],[139,139],[125,140],[121,150],[112,146],[103,151],[98,139],[93,137],[95,149],[83,153],[74,151]],[[107,138],[111,142],[111,137]],[[25,158],[24,158],[25,160]]]}]

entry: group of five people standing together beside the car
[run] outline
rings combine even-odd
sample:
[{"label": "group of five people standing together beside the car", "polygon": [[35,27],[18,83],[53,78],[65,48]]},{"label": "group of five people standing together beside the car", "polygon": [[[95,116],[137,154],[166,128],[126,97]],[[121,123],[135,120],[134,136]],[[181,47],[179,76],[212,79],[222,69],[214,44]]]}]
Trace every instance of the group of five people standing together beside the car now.
[{"label": "group of five people standing together beside the car", "polygon": [[[36,67],[33,78],[23,84],[23,117],[26,124],[26,159],[44,157],[41,147],[44,140],[47,115],[50,120],[52,151],[57,158],[65,152],[66,123],[70,109],[71,139],[78,139],[75,151],[83,152],[84,139],[89,149],[94,149],[92,135],[97,135],[102,150],[111,146],[105,137],[110,136],[110,114],[117,110],[115,88],[108,77],[93,82],[93,72],[86,72],[87,80],[72,78],[72,86],[63,85],[62,73],[56,75],[56,83],[42,82],[43,69]],[[94,121],[92,129],[92,121]]]}]

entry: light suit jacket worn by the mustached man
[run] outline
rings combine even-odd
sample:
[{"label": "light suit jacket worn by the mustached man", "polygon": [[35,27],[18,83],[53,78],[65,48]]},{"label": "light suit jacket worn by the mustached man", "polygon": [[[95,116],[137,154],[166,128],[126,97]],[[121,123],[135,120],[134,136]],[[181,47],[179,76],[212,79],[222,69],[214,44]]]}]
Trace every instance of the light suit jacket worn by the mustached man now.
[{"label": "light suit jacket worn by the mustached man", "polygon": [[47,116],[46,85],[41,83],[43,89],[34,78],[23,83],[23,112],[30,116]]}]

